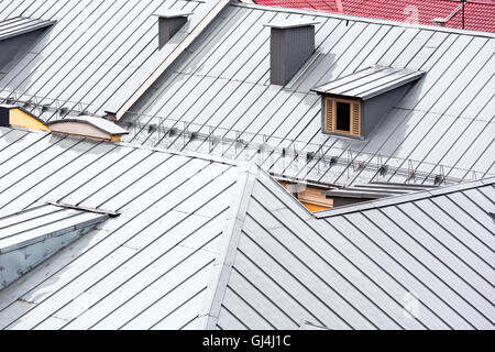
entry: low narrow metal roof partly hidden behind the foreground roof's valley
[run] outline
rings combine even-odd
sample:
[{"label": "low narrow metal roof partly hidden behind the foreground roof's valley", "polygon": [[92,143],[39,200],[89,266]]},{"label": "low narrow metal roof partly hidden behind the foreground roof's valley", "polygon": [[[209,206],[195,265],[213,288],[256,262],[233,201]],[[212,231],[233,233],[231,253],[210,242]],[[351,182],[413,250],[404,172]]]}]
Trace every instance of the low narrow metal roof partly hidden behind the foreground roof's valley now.
[{"label": "low narrow metal roof partly hidden behind the foreground roof's valley", "polygon": [[344,198],[380,199],[435,188],[437,188],[437,186],[425,186],[415,184],[408,185],[408,184],[371,183],[363,185],[356,184],[352,185],[351,187],[330,189],[323,191],[323,194],[330,198],[344,197]]}]

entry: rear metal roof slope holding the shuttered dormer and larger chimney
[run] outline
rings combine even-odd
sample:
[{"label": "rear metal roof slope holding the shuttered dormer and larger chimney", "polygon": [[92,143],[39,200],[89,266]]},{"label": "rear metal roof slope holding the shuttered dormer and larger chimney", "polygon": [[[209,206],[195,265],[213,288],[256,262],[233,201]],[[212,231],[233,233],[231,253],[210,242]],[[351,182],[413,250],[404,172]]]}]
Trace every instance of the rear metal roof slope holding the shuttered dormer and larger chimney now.
[{"label": "rear metal roof slope holding the shuttered dormer and larger chimney", "polygon": [[[320,22],[316,53],[287,86],[270,85],[264,24],[299,18]],[[490,33],[231,3],[122,125],[132,143],[253,160],[316,184],[483,178],[495,175],[494,43]],[[365,141],[322,134],[311,89],[375,65],[428,74]]]}]

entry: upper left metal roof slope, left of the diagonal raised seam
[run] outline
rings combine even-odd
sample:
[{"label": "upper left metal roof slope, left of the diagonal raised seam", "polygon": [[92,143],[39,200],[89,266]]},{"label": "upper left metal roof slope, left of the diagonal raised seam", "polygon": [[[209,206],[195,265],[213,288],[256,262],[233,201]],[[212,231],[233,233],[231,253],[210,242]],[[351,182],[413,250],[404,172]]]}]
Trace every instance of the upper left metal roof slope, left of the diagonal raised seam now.
[{"label": "upper left metal roof slope, left of the diagonal raised seam", "polygon": [[[0,79],[0,101],[24,105],[44,121],[118,111],[184,51],[227,0],[2,0],[0,21],[22,13],[55,21]],[[161,10],[194,12],[158,50]],[[132,99],[131,99],[132,100]]]}]

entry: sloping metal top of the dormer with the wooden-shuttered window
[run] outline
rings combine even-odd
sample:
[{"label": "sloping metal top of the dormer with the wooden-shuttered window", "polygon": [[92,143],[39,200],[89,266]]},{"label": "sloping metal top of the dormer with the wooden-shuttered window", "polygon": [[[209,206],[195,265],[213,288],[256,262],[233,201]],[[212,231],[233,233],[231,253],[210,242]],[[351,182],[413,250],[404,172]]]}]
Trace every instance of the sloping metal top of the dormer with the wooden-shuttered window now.
[{"label": "sloping metal top of the dormer with the wooden-shuttered window", "polygon": [[424,72],[373,66],[324,84],[312,91],[369,100],[425,76]]}]

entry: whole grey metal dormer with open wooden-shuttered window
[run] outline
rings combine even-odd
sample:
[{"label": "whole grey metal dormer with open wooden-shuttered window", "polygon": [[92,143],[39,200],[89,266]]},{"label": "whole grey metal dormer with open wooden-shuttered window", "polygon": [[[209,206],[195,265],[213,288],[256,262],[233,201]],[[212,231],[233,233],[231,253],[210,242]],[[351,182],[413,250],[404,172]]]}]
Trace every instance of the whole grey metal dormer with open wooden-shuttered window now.
[{"label": "whole grey metal dormer with open wooden-shuttered window", "polygon": [[424,75],[373,66],[311,89],[321,95],[322,132],[364,140]]}]

